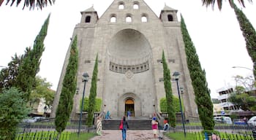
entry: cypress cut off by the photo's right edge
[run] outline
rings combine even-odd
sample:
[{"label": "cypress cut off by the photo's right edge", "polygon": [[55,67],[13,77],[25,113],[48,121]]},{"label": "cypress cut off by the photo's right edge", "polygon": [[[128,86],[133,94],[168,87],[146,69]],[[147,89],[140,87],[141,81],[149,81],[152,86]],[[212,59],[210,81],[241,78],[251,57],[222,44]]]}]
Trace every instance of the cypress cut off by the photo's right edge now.
[{"label": "cypress cut off by the photo's right edge", "polygon": [[252,24],[249,22],[249,20],[246,18],[246,15],[244,15],[244,12],[242,12],[241,9],[238,9],[238,7],[236,7],[236,4],[233,5],[234,11],[236,13],[236,18],[240,25],[240,29],[243,32],[244,40],[246,42],[246,50],[253,62],[253,75],[256,79],[256,31],[255,28],[253,28]]}]

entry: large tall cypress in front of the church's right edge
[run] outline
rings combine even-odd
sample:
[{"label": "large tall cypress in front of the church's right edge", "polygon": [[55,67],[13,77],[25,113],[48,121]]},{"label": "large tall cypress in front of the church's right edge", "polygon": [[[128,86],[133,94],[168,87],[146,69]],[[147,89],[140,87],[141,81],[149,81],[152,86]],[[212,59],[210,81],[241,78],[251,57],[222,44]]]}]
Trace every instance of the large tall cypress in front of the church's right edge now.
[{"label": "large tall cypress in front of the church's right edge", "polygon": [[206,71],[202,70],[200,61],[187,31],[184,18],[181,15],[181,32],[187,55],[187,66],[192,79],[192,86],[195,92],[195,102],[204,130],[214,130],[214,112],[211,102],[210,90],[206,81]]}]

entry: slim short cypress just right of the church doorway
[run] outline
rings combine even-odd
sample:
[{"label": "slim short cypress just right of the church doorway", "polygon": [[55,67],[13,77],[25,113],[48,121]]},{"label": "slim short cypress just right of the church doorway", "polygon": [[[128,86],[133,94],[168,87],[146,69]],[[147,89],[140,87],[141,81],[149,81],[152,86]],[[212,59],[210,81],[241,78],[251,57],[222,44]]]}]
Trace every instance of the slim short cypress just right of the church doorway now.
[{"label": "slim short cypress just right of the church doorway", "polygon": [[167,113],[170,126],[176,127],[176,110],[173,102],[172,84],[170,82],[170,69],[168,69],[165,52],[162,50],[162,67],[164,72],[165,97],[167,102]]}]

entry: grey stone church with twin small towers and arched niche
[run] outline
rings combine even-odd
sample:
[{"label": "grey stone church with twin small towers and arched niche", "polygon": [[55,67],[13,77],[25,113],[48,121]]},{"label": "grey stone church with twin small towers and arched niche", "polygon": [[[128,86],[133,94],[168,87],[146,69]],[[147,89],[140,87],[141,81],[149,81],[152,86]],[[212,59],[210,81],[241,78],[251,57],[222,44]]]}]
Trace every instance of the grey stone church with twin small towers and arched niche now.
[{"label": "grey stone church with twin small towers and arched niche", "polygon": [[[97,98],[102,99],[102,111],[110,111],[111,117],[119,118],[128,110],[132,117],[148,117],[160,112],[160,99],[165,98],[162,50],[165,51],[170,75],[174,71],[181,74],[178,83],[185,117],[198,117],[176,9],[165,5],[158,17],[143,0],[114,0],[100,18],[93,7],[80,13],[80,23],[72,35],[73,38],[78,36],[79,53],[78,87],[72,118],[78,118],[80,114],[83,73],[92,77],[97,54]],[[52,117],[55,117],[59,103],[68,60],[69,50],[59,79]],[[86,82],[86,97],[89,97],[90,88],[91,79]],[[178,97],[174,80],[172,90]]]}]

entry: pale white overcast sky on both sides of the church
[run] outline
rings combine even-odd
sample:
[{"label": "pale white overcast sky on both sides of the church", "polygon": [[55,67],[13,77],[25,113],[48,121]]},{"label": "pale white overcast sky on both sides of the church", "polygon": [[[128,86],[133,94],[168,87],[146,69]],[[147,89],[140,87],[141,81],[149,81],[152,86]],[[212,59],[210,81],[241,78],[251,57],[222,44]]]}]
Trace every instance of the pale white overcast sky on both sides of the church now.
[{"label": "pale white overcast sky on both sides of the church", "polygon": [[[252,69],[252,61],[246,51],[236,15],[227,1],[224,1],[222,11],[217,7],[214,10],[203,7],[200,0],[145,1],[158,16],[165,4],[178,9],[178,17],[180,13],[183,15],[201,66],[206,69],[212,98],[217,97],[217,89],[234,85],[233,76],[252,75],[252,71],[248,69],[232,68],[244,66]],[[26,47],[33,45],[42,24],[51,13],[39,75],[51,82],[52,89],[56,90],[70,37],[75,25],[80,23],[80,11],[94,5],[100,17],[112,2],[113,0],[56,0],[56,4],[42,11],[29,11],[28,8],[22,10],[23,1],[19,7],[3,4],[0,7],[0,66],[7,66],[15,52],[21,55]],[[246,1],[243,12],[256,28],[255,4]]]}]

